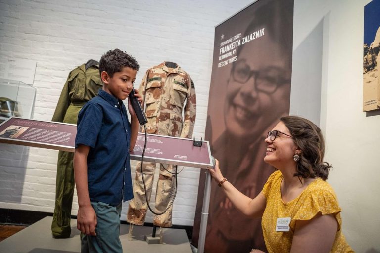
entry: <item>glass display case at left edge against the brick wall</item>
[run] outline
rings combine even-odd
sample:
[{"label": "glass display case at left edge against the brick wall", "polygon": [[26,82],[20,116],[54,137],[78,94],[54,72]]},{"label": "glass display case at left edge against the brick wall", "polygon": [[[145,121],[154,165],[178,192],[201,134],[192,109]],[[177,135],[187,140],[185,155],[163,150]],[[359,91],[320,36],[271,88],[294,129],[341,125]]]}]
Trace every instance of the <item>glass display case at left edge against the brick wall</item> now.
[{"label": "glass display case at left edge against the brick wall", "polygon": [[35,98],[35,87],[0,78],[0,123],[12,116],[30,119]]}]

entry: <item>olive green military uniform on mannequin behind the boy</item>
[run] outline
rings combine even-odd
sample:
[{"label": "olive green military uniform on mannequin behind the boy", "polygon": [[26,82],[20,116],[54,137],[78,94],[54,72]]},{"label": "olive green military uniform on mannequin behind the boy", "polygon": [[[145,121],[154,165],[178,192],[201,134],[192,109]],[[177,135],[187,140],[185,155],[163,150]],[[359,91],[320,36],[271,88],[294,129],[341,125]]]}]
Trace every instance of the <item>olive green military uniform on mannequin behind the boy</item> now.
[{"label": "olive green military uniform on mannequin behind the boy", "polygon": [[[55,122],[77,124],[83,105],[102,88],[98,65],[86,65],[72,70],[63,86],[52,118]],[[74,195],[74,153],[59,151],[55,185],[55,208],[51,232],[55,238],[70,236],[70,217]]]}]

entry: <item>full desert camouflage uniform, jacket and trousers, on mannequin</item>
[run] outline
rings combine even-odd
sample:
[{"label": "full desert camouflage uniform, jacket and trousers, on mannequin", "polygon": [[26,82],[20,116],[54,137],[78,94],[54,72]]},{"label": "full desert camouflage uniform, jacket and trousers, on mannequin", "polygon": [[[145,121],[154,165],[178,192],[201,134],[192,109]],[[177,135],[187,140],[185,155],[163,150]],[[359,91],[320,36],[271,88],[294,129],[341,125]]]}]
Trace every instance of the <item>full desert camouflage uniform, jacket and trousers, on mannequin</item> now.
[{"label": "full desert camouflage uniform, jacket and trousers, on mannequin", "polygon": [[[192,137],[196,114],[195,88],[190,76],[181,67],[171,62],[163,62],[152,67],[146,72],[139,93],[145,103],[145,115],[148,120],[147,133],[182,138]],[[144,224],[147,211],[140,165],[139,162],[136,166],[134,199],[129,204],[127,214],[127,221],[135,225]],[[164,211],[173,198],[173,179],[176,169],[172,165],[160,164],[159,166],[156,212]],[[155,169],[155,163],[142,165],[149,200]],[[171,227],[172,207],[162,215],[155,215],[153,224]]]}]

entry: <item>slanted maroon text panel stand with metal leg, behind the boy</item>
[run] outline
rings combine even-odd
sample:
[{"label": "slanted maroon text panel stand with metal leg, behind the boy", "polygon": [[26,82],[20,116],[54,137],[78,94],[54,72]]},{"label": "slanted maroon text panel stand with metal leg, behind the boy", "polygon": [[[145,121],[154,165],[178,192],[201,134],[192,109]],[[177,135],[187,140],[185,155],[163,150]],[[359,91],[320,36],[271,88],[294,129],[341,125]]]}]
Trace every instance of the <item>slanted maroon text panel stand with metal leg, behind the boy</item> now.
[{"label": "slanted maroon text panel stand with metal leg, behind the boy", "polygon": [[[0,142],[74,152],[76,132],[75,124],[10,117],[0,124]],[[139,133],[134,150],[130,152],[131,159],[142,159],[145,136],[143,161],[206,169],[198,242],[198,252],[203,252],[211,193],[208,169],[214,166],[209,142]]]}]

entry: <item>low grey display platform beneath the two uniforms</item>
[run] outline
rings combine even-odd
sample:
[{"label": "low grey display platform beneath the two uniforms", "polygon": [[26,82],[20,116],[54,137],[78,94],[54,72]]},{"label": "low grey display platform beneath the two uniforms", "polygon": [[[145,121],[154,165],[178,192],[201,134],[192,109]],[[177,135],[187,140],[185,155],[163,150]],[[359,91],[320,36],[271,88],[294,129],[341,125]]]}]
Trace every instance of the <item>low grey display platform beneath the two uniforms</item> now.
[{"label": "low grey display platform beneath the two uniforms", "polygon": [[[80,253],[80,231],[77,220],[71,219],[71,235],[66,239],[51,236],[51,221],[47,216],[0,242],[0,253]],[[147,244],[144,236],[151,227],[135,226],[133,240],[128,239],[129,226],[120,225],[120,241],[123,253],[192,253],[189,239],[184,229],[164,228],[161,244]]]}]

